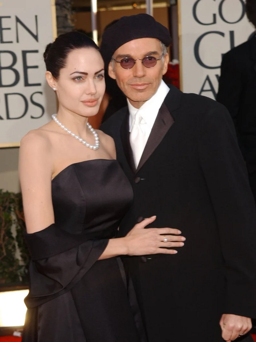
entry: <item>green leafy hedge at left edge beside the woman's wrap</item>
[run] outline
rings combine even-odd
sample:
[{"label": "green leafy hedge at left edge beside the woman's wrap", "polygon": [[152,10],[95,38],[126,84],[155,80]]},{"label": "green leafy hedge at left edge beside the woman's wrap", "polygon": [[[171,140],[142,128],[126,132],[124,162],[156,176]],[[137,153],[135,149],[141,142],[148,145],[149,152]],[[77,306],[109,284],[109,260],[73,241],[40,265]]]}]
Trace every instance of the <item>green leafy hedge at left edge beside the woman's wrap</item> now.
[{"label": "green leafy hedge at left edge beside the woman's wrap", "polygon": [[28,284],[24,231],[21,195],[0,189],[0,286]]}]

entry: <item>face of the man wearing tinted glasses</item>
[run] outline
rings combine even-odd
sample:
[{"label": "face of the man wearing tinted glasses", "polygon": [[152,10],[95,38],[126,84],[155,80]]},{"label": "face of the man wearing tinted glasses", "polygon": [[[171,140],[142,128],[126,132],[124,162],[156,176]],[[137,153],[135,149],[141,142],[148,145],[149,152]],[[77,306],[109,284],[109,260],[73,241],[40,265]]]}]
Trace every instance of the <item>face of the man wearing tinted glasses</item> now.
[{"label": "face of the man wearing tinted glasses", "polygon": [[[125,57],[144,58],[146,56],[161,57],[162,47],[158,39],[139,38],[120,46],[113,57],[120,61]],[[166,54],[153,68],[146,68],[141,61],[136,61],[131,69],[124,69],[115,61],[109,64],[109,76],[116,79],[118,87],[128,97],[130,103],[140,108],[157,91],[162,75],[167,71],[169,56]]]}]

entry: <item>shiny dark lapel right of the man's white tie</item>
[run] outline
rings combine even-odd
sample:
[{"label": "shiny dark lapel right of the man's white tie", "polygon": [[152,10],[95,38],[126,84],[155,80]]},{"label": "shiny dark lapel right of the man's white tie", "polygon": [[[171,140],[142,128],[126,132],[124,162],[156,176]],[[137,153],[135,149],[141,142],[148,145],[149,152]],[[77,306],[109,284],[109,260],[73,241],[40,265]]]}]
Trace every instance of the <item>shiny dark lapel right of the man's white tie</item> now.
[{"label": "shiny dark lapel right of the man's white tie", "polygon": [[169,131],[170,127],[173,125],[174,119],[171,116],[168,108],[166,107],[166,104],[163,102],[156,120],[154,122],[154,125],[152,127],[150,136],[148,137],[146,146],[144,148],[144,151],[142,153],[138,168],[136,172],[138,172],[141,167],[145,164],[145,162],[148,160],[148,158],[152,155],[154,150],[157,148],[157,146],[162,141],[163,137],[166,135],[166,133]]}]

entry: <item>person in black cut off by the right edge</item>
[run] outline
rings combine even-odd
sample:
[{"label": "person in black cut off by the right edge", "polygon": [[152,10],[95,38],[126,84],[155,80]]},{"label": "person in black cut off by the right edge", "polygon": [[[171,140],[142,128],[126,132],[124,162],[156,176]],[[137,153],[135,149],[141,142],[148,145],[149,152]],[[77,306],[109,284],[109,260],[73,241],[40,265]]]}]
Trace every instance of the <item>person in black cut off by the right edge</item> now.
[{"label": "person in black cut off by the right edge", "polygon": [[[256,27],[256,0],[246,0],[246,14]],[[256,200],[256,34],[222,59],[217,101],[227,107],[237,132]]]}]

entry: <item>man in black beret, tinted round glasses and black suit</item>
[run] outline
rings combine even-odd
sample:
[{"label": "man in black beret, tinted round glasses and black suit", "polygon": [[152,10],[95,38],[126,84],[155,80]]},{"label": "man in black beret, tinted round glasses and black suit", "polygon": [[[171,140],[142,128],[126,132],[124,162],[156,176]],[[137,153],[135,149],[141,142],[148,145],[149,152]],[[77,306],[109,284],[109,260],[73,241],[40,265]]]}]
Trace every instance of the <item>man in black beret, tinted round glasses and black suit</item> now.
[{"label": "man in black beret, tinted round glasses and black suit", "polygon": [[256,214],[243,159],[225,107],[162,82],[169,44],[147,14],[122,17],[102,39],[128,103],[102,125],[134,192],[119,234],[156,215],[151,226],[186,237],[175,255],[123,261],[149,342],[252,341]]}]

